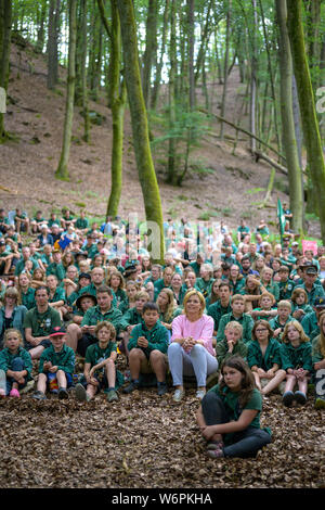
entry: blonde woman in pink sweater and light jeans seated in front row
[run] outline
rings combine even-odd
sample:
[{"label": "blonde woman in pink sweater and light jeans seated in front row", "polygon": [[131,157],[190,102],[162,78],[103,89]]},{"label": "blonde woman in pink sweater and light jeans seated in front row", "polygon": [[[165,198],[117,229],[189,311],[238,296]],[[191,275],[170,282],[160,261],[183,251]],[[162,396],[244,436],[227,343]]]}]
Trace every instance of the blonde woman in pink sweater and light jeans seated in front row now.
[{"label": "blonde woman in pink sweater and light jeans seated in front row", "polygon": [[196,397],[202,399],[206,394],[207,375],[218,370],[212,346],[213,319],[204,314],[205,306],[200,292],[188,291],[184,297],[184,313],[172,321],[168,361],[176,386],[176,403],[185,394],[183,374],[196,377]]}]

